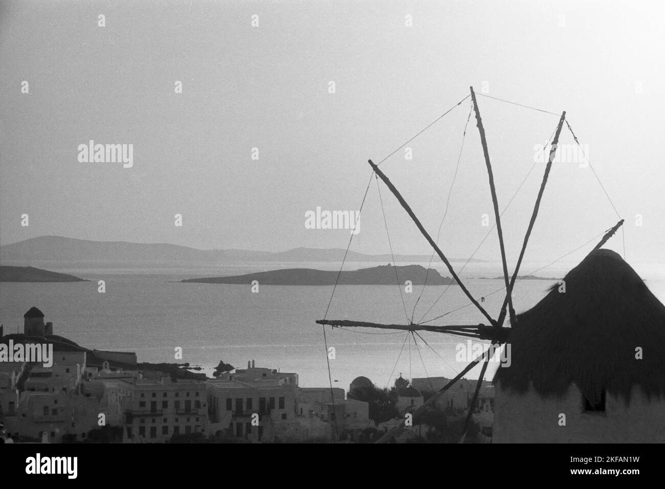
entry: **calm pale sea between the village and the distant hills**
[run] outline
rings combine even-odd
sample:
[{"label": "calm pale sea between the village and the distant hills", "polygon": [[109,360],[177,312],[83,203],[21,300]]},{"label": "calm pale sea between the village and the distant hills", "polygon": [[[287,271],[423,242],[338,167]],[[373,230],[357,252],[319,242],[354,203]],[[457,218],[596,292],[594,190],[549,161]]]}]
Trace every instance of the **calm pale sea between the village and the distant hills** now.
[{"label": "calm pale sea between the village and the distant hills", "polygon": [[[421,263],[427,266],[428,263]],[[344,269],[377,263],[347,263]],[[456,269],[460,263],[454,264]],[[545,263],[523,265],[524,275]],[[535,305],[575,263],[555,263],[535,275],[543,280],[515,284],[519,313]],[[211,376],[219,361],[244,368],[249,361],[299,375],[302,387],[341,387],[360,375],[387,387],[402,375],[454,377],[467,365],[470,339],[440,333],[382,329],[339,329],[317,319],[375,323],[476,325],[486,319],[457,285],[404,284],[331,286],[226,285],[180,283],[182,279],[235,275],[285,267],[335,269],[338,263],[251,263],[211,269],[62,269],[88,279],[72,283],[0,283],[0,323],[5,334],[23,331],[23,314],[36,306],[53,322],[53,332],[90,349],[134,351],[138,361],[190,363]],[[665,302],[665,264],[632,265],[651,291]],[[449,276],[444,265],[432,264]],[[500,263],[469,263],[461,274],[475,298],[495,317],[503,302]],[[98,292],[104,280],[105,292]],[[332,297],[332,299],[331,299]],[[482,298],[482,299],[481,299]],[[441,316],[441,317],[439,317]],[[437,318],[438,317],[438,318]],[[436,319],[435,319],[436,318]],[[475,340],[473,340],[475,342]],[[182,360],[176,349],[182,348]],[[490,363],[491,380],[498,362]],[[477,379],[479,367],[467,374]]]}]

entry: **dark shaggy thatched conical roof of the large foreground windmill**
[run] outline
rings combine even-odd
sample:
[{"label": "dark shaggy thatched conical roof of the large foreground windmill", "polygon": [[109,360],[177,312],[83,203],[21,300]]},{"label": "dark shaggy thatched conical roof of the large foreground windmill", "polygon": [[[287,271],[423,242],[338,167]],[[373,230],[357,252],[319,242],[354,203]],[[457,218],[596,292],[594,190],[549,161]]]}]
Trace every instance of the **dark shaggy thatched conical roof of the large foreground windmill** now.
[{"label": "dark shaggy thatched conical roof of the large foreground windmill", "polygon": [[[575,383],[591,401],[602,389],[630,401],[631,388],[665,393],[665,306],[617,253],[590,253],[511,331],[511,365],[495,383],[519,393],[529,381],[543,397]],[[636,359],[636,348],[642,359]]]}]

